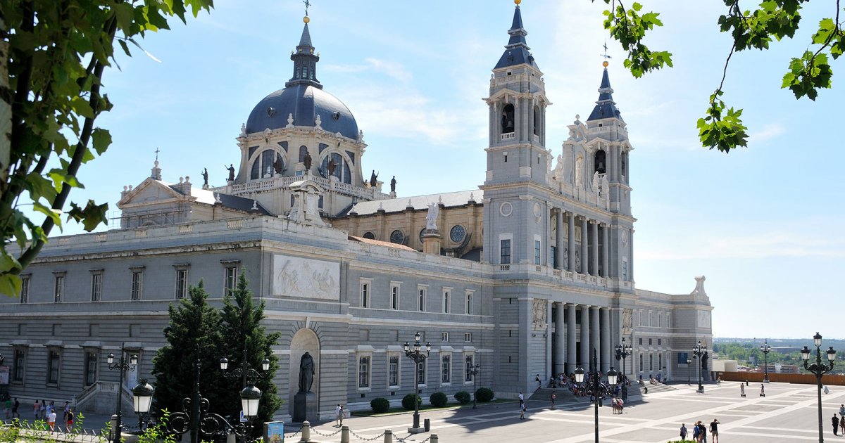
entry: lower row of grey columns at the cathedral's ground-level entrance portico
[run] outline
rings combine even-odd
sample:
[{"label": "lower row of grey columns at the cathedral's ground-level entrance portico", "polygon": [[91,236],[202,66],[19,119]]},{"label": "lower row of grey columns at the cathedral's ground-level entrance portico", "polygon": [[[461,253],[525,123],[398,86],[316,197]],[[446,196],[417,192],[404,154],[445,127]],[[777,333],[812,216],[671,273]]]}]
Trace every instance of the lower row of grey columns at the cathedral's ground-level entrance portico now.
[{"label": "lower row of grey columns at the cathedral's ground-level entrance portico", "polygon": [[[555,302],[554,348],[552,361],[554,374],[571,374],[576,365],[587,370],[592,366],[592,348],[597,348],[598,367],[603,372],[610,370],[612,343],[610,340],[610,308],[604,306],[578,305]],[[565,314],[564,314],[565,306]],[[576,354],[578,334],[575,327],[575,310],[581,310],[581,352]],[[564,321],[565,317],[565,321]],[[565,325],[565,327],[564,327]]]}]

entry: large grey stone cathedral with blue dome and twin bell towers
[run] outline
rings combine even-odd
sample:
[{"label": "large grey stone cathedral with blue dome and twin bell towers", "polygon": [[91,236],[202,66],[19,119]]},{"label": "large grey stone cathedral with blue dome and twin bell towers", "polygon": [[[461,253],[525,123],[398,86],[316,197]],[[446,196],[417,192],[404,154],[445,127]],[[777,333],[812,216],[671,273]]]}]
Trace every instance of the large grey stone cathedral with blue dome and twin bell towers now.
[{"label": "large grey stone cathedral with blue dome and twin bell towers", "polygon": [[[397,404],[415,377],[423,397],[472,391],[476,364],[477,386],[515,397],[537,375],[589,367],[593,348],[599,370],[619,369],[623,340],[630,377],[685,379],[690,349],[711,343],[712,307],[703,277],[690,294],[635,288],[633,146],[607,69],[589,116],[548,149],[551,103],[518,5],[507,35],[484,99],[486,180],[400,197],[365,176],[363,132],[319,82],[306,20],[292,77],[241,126],[225,185],[165,180],[156,161],[124,187],[119,229],[52,238],[19,299],[0,297],[9,394],[110,413],[106,355],[125,343],[140,356],[128,392],[165,344],[167,306],[200,279],[219,304],[240,273],[282,334],[279,419],[291,419],[305,352],[320,418],[337,403]],[[402,348],[417,331],[432,344],[420,365]]]}]

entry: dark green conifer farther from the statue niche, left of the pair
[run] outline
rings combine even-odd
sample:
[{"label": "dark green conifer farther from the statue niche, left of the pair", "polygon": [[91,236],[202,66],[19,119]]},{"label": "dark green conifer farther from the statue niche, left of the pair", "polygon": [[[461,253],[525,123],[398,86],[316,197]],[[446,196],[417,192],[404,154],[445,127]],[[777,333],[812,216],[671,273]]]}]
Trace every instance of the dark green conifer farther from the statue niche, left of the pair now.
[{"label": "dark green conifer farther from the statue niche, left of the pair", "polygon": [[153,359],[155,413],[182,411],[182,399],[194,389],[194,363],[199,347],[200,392],[210,410],[221,412],[220,311],[208,304],[203,282],[188,288],[188,298],[168,308],[170,323],[164,328],[167,345]]}]

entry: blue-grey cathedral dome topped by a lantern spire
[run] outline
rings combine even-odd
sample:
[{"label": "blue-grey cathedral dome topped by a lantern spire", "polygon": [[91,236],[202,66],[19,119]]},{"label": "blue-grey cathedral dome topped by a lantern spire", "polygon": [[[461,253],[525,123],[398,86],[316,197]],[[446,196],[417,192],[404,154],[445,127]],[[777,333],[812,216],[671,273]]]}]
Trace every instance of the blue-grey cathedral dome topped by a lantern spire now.
[{"label": "blue-grey cathedral dome topped by a lantern spire", "polygon": [[255,105],[247,119],[247,133],[287,126],[288,115],[293,115],[293,125],[316,126],[328,132],[341,132],[347,138],[358,138],[358,124],[349,108],[334,95],[323,90],[317,79],[319,55],[314,52],[308,21],[303,28],[296,51],[291,54],[293,77],[279,89]]}]

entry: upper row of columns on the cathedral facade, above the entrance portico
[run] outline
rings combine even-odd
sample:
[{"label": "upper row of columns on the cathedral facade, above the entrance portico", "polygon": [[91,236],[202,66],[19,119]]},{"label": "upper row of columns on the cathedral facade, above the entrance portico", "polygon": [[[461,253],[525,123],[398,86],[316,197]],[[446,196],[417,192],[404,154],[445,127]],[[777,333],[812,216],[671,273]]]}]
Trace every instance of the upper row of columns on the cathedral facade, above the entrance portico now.
[{"label": "upper row of columns on the cathedral facade, above the entrance portico", "polygon": [[[569,235],[564,244],[564,215],[568,218]],[[581,262],[575,263],[575,219],[581,224]],[[609,262],[609,230],[610,225],[596,220],[587,219],[581,215],[575,215],[569,211],[558,209],[555,214],[555,222],[558,229],[558,238],[555,243],[556,269],[566,269],[577,273],[589,273],[596,277],[607,278],[610,268]],[[602,228],[602,267],[598,266],[598,230]],[[591,236],[591,241],[588,238]],[[592,247],[590,247],[590,244]],[[569,257],[564,257],[564,250],[569,251]],[[564,258],[566,258],[564,262]],[[590,264],[592,270],[590,271]],[[601,272],[599,272],[601,269]]]}]

